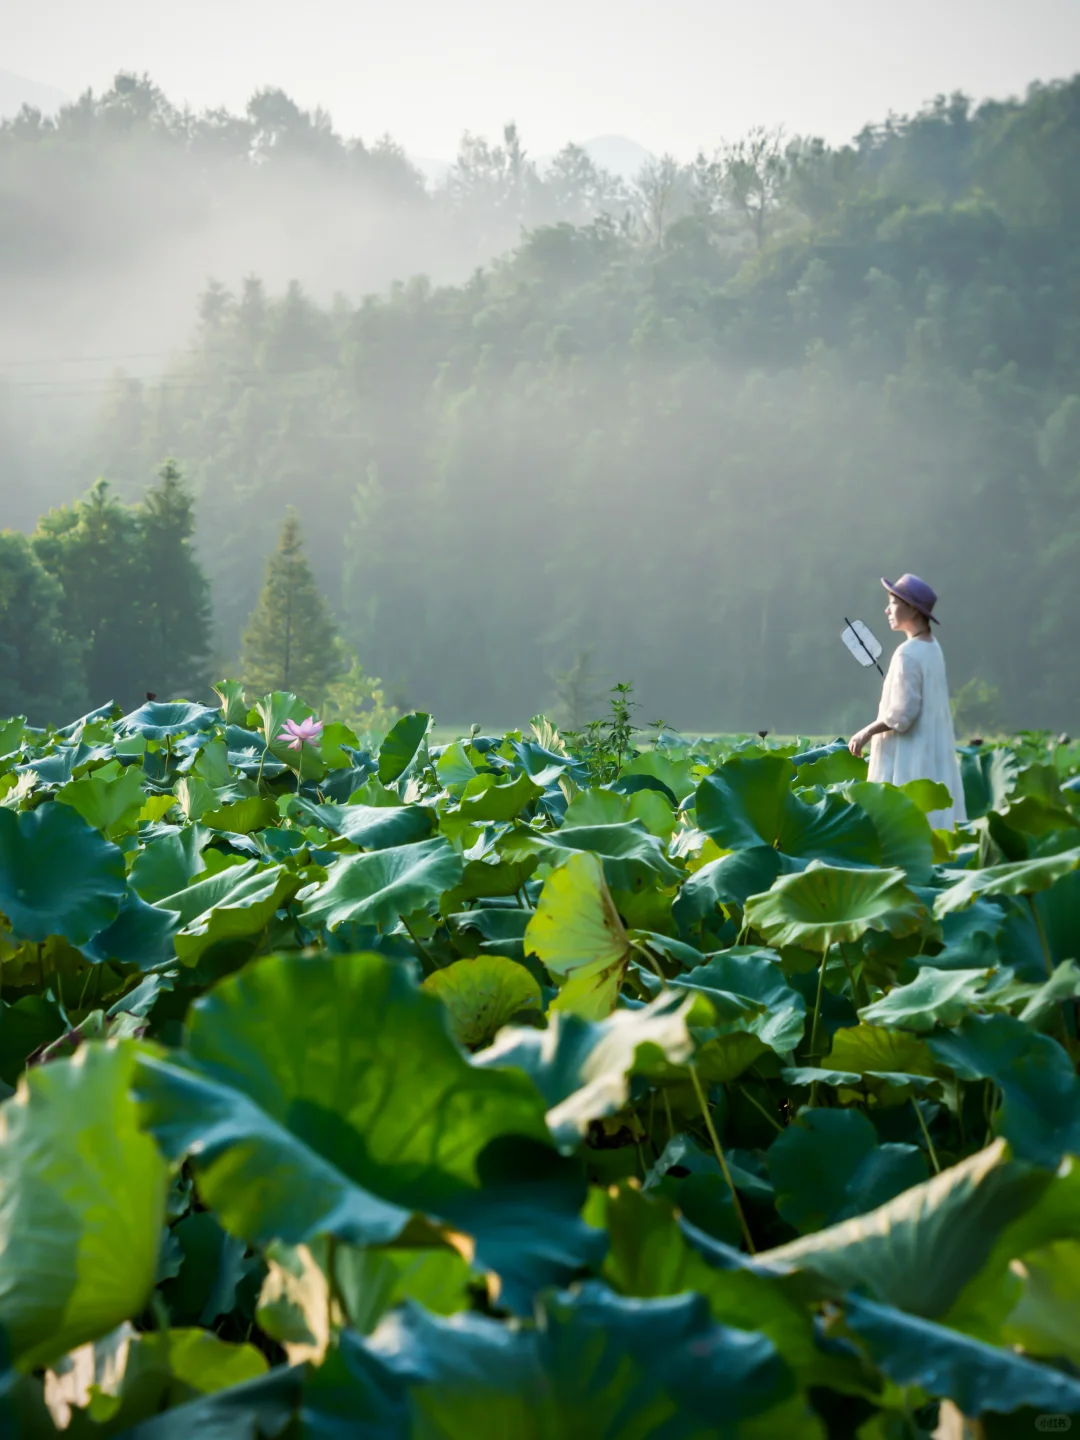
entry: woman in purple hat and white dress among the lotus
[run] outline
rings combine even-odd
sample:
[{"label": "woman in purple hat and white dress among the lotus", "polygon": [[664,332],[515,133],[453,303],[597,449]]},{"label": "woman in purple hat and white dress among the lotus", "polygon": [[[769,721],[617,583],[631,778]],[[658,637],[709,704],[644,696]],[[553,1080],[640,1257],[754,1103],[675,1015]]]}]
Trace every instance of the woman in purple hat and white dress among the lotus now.
[{"label": "woman in purple hat and white dress among the lotus", "polygon": [[896,585],[888,580],[881,585],[888,590],[890,629],[903,631],[907,639],[893,655],[877,720],[852,734],[848,749],[861,756],[870,744],[871,780],[906,785],[926,779],[948,786],[952,805],[932,811],[927,819],[935,829],[955,829],[968,811],[956,762],[945,655],[930,634],[930,622],[937,624],[933,615],[937,596],[917,575],[901,575]]}]

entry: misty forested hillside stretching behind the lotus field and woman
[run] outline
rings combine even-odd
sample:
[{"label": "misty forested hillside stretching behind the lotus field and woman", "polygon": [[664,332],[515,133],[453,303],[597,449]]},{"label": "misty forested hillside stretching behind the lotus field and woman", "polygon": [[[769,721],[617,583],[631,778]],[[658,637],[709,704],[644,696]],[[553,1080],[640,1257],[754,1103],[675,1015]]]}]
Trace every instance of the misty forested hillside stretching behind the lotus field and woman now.
[{"label": "misty forested hillside stretching behind the lotus field and woman", "polygon": [[0,125],[3,524],[176,458],[225,672],[295,505],[364,668],[455,724],[577,665],[845,732],[844,616],[884,638],[913,570],[969,730],[1080,724],[1080,76],[634,183],[527,140],[429,187],[279,91],[130,76]]}]

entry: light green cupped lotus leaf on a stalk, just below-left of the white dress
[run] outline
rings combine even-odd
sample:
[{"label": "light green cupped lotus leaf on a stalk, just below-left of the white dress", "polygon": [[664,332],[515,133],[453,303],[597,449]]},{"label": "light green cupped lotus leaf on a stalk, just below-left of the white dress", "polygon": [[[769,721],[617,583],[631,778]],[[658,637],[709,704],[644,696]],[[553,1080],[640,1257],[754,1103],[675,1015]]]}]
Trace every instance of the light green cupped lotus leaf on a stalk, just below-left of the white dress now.
[{"label": "light green cupped lotus leaf on a stalk, just below-left of the white dress", "polygon": [[768,894],[746,901],[746,923],[770,945],[824,953],[867,930],[912,935],[927,920],[901,870],[841,870],[812,863],[783,876]]}]

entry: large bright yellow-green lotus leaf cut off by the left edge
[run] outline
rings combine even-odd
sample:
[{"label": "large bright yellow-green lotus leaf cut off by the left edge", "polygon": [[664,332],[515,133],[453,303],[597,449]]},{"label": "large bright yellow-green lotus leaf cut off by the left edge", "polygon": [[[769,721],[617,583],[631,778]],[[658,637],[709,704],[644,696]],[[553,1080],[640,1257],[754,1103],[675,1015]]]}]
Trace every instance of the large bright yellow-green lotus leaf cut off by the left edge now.
[{"label": "large bright yellow-green lotus leaf cut off by the left edge", "polygon": [[0,1107],[0,1326],[22,1369],[137,1316],[166,1169],[135,1123],[128,1045],[35,1067]]}]

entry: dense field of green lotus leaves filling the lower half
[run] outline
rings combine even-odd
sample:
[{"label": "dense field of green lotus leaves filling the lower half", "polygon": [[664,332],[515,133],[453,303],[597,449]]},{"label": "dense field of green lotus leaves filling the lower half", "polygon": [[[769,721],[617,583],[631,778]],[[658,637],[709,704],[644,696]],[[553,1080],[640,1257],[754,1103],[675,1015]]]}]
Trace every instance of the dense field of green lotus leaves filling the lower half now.
[{"label": "dense field of green lotus leaves filling the lower half", "polygon": [[1080,746],[0,724],[0,1434],[1080,1423]]}]

